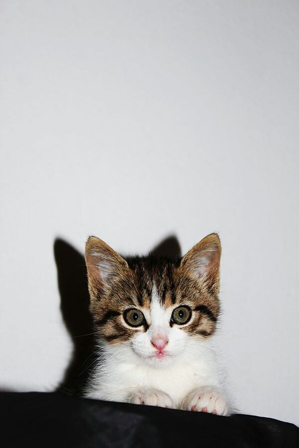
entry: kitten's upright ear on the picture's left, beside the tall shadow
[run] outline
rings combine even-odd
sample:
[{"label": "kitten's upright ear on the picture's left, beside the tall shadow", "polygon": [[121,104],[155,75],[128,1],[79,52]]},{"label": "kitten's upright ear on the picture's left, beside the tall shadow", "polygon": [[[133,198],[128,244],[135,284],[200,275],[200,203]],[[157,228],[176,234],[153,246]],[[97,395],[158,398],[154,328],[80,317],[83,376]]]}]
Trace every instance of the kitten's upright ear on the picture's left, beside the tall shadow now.
[{"label": "kitten's upright ear on the picture's left, beside the tall shadow", "polygon": [[127,261],[96,236],[90,236],[86,241],[85,262],[91,299],[98,299],[116,277],[129,270]]}]

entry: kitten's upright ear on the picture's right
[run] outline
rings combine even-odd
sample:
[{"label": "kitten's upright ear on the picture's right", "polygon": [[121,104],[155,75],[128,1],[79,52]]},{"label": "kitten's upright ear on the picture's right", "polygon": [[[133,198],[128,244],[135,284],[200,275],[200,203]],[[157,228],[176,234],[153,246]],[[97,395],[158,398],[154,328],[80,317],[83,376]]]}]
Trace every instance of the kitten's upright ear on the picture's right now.
[{"label": "kitten's upright ear on the picture's right", "polygon": [[192,277],[218,288],[221,243],[217,233],[205,236],[182,258],[180,267]]}]

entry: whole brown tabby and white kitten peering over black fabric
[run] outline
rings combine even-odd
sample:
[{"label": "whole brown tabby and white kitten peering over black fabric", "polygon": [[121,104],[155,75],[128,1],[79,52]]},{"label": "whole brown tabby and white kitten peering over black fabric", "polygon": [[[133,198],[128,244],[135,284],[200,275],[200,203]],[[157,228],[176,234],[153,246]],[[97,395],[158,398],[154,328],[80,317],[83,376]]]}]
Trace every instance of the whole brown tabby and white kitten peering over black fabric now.
[{"label": "whole brown tabby and white kitten peering over black fabric", "polygon": [[217,234],[182,258],[127,261],[101,239],[86,243],[98,364],[85,396],[227,415],[209,339],[219,315]]}]

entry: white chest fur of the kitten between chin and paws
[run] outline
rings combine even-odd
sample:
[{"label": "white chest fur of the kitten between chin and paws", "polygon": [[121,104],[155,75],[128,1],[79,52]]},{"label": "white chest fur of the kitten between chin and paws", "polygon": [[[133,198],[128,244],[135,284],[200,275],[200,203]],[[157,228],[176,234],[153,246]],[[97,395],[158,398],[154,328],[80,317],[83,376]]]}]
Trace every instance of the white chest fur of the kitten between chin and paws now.
[{"label": "white chest fur of the kitten between chin and paws", "polygon": [[145,364],[126,345],[105,346],[101,352],[85,393],[90,398],[122,402],[136,390],[153,388],[178,405],[195,388],[220,386],[213,350],[204,343],[194,343],[179,361],[160,368]]}]

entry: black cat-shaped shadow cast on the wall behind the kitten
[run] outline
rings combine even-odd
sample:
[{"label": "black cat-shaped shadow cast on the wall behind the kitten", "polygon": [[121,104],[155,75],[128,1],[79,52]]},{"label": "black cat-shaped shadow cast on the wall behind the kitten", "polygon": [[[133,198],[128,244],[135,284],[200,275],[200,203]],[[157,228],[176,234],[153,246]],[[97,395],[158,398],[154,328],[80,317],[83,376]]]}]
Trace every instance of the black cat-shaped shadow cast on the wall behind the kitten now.
[{"label": "black cat-shaped shadow cast on the wall behind the kitten", "polygon": [[[181,257],[179,242],[170,235],[157,244],[151,255]],[[80,394],[94,367],[94,329],[89,313],[87,271],[84,256],[71,244],[57,238],[54,242],[60,310],[73,341],[73,353],[58,390],[70,395]],[[125,257],[124,257],[125,258]]]}]

